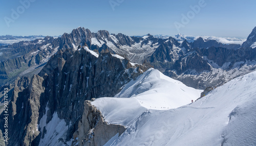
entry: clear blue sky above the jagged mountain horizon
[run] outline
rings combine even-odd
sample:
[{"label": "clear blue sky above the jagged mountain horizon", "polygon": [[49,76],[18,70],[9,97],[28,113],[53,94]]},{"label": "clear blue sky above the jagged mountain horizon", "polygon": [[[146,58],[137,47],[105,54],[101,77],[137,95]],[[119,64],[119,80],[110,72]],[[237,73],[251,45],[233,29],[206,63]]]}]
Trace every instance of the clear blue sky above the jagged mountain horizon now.
[{"label": "clear blue sky above the jagged mountain horizon", "polygon": [[0,35],[55,36],[80,26],[130,36],[246,38],[255,10],[255,0],[0,0]]}]

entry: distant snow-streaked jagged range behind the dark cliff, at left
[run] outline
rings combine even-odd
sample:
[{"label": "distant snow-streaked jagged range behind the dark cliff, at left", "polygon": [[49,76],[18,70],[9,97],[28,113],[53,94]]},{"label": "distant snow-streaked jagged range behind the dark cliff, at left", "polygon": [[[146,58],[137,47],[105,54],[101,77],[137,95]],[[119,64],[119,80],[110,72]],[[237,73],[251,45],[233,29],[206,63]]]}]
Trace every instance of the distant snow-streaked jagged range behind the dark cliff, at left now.
[{"label": "distant snow-streaked jagged range behind the dark cliff, at left", "polygon": [[92,33],[89,29],[77,28],[61,37],[45,37],[34,41],[22,41],[0,49],[0,86],[14,82],[19,76],[32,77],[42,69],[58,50],[75,52],[86,44],[90,50],[99,53],[111,52],[126,56],[135,63],[150,56],[163,40],[148,35],[143,38],[123,34],[109,34],[108,31]]}]

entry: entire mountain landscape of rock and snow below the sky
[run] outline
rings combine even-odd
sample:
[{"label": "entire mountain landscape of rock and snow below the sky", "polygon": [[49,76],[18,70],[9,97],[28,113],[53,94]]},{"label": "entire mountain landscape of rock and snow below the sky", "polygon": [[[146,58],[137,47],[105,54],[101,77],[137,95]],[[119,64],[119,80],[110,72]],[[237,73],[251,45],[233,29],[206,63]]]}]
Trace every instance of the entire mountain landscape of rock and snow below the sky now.
[{"label": "entire mountain landscape of rock and snow below the sky", "polygon": [[227,44],[79,27],[0,46],[6,144],[253,145],[255,34]]}]

